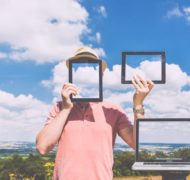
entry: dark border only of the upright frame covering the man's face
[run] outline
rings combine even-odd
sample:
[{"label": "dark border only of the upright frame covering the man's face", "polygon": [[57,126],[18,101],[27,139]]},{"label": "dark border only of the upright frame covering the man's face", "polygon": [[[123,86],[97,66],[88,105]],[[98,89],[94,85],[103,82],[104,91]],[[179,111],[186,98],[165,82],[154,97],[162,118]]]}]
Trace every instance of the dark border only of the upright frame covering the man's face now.
[{"label": "dark border only of the upright frame covering the man's face", "polygon": [[73,71],[72,66],[74,63],[94,63],[99,65],[99,97],[98,98],[76,98],[71,95],[71,101],[72,102],[100,102],[103,100],[103,92],[102,92],[102,61],[99,59],[88,59],[88,58],[82,58],[82,59],[73,59],[69,60],[69,82],[73,83]]}]

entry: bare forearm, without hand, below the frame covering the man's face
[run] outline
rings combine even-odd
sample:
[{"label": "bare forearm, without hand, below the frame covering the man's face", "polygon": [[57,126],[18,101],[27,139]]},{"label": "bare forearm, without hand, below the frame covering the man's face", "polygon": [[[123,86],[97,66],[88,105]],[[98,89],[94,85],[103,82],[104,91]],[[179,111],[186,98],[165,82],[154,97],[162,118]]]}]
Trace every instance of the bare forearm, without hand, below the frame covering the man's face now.
[{"label": "bare forearm, without hand, below the frame covering the man's face", "polygon": [[62,109],[56,118],[39,132],[36,137],[36,149],[41,154],[48,153],[58,142],[70,111],[71,109]]}]

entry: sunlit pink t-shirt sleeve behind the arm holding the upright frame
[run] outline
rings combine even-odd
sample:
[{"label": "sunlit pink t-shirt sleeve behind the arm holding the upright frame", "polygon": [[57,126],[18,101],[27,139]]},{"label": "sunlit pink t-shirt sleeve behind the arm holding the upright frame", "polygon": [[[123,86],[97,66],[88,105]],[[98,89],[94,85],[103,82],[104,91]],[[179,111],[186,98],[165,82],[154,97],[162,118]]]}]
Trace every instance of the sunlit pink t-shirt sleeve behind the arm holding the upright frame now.
[{"label": "sunlit pink t-shirt sleeve behind the arm holding the upright frame", "polygon": [[56,104],[52,106],[44,126],[50,124],[56,118],[59,112],[60,112],[60,102],[57,102]]}]

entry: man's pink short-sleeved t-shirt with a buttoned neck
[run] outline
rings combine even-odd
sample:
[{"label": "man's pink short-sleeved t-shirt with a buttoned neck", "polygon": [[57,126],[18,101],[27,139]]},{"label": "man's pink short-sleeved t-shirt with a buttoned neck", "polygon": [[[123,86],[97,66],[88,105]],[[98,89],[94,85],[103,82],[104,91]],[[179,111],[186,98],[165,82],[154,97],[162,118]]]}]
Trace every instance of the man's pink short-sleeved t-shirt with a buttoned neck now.
[{"label": "man's pink short-sleeved t-shirt with a buttoned neck", "polygon": [[[58,142],[53,180],[111,180],[113,146],[120,129],[131,123],[124,111],[109,102],[74,104]],[[61,108],[53,106],[45,125]]]}]

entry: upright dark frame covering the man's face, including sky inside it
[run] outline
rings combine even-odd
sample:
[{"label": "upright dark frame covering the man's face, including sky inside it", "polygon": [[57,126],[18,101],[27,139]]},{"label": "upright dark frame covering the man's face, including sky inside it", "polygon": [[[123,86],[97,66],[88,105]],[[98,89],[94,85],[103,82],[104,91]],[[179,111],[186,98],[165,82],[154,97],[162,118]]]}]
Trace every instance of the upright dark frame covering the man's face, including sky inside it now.
[{"label": "upright dark frame covering the man's face, including sky inside it", "polygon": [[69,82],[77,86],[78,94],[73,101],[101,101],[102,73],[101,63],[95,61],[72,61],[70,63]]}]

